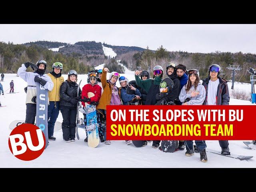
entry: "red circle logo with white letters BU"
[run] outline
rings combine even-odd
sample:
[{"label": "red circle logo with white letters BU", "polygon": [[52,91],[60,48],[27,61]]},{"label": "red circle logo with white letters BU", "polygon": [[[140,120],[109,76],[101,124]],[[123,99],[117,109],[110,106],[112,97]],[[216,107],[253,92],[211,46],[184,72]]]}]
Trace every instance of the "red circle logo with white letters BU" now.
[{"label": "red circle logo with white letters BU", "polygon": [[24,161],[38,158],[44,151],[46,144],[42,130],[28,123],[14,128],[9,136],[8,143],[12,154]]}]

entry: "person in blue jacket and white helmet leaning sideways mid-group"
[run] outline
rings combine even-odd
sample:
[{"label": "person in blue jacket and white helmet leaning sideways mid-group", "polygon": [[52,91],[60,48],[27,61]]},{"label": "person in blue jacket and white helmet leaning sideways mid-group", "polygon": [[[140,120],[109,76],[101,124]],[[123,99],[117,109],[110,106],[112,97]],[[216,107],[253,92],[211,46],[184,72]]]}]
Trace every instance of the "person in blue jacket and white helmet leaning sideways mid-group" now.
[{"label": "person in blue jacket and white helmet leaning sideways mid-group", "polygon": [[[119,92],[121,94],[123,105],[128,105],[128,103],[131,102],[132,99],[134,98],[140,99],[140,91],[136,89],[134,86],[128,85],[128,78],[121,76],[118,80],[121,85],[121,87],[119,88]],[[132,140],[126,140],[125,142],[128,145],[132,143]]]}]

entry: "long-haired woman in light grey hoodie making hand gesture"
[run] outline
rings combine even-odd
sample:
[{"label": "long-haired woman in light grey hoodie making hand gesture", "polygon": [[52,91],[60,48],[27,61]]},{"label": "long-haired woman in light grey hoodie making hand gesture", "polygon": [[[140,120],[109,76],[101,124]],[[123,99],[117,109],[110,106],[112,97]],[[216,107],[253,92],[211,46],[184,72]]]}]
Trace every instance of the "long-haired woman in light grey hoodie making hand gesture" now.
[{"label": "long-haired woman in light grey hoodie making hand gesture", "polygon": [[[188,82],[182,87],[180,92],[180,102],[182,105],[202,105],[205,98],[204,86],[199,82],[199,72],[196,69],[191,69],[188,71]],[[202,162],[207,161],[206,156],[206,143],[204,140],[195,140],[196,147],[200,152],[200,159]],[[186,156],[192,156],[194,154],[193,141],[186,140]]]}]

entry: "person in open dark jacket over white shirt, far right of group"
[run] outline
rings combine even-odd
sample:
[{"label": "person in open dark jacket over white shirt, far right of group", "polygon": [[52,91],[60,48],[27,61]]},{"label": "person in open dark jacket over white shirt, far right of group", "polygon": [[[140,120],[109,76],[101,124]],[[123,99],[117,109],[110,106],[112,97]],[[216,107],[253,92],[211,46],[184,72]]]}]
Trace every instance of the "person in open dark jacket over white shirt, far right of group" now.
[{"label": "person in open dark jacket over white shirt, far right of group", "polygon": [[[203,80],[203,86],[206,90],[204,105],[229,105],[229,92],[227,81],[219,77],[220,66],[213,64],[209,67],[208,77]],[[228,141],[219,141],[221,153],[230,155]]]}]

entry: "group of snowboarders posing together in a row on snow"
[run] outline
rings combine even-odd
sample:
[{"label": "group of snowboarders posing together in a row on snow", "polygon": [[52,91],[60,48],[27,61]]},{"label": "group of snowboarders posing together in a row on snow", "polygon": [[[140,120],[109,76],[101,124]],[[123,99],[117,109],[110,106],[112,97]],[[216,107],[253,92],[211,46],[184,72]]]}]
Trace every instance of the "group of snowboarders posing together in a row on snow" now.
[{"label": "group of snowboarders posing together in a row on snow", "polygon": [[[34,72],[26,72],[31,66]],[[107,80],[108,68],[102,70],[92,70],[88,73],[87,82],[82,90],[78,87],[78,74],[75,70],[68,72],[68,79],[64,81],[61,71],[63,64],[55,62],[52,71],[45,74],[46,62],[39,60],[36,65],[26,62],[18,69],[18,75],[24,79],[28,86],[26,91],[26,121],[34,124],[36,116],[36,82],[39,82],[45,89],[49,90],[48,106],[48,137],[49,140],[56,140],[54,134],[54,124],[62,113],[62,132],[65,142],[75,141],[77,104],[85,103],[96,106],[98,132],[101,142],[111,144],[106,140],[106,106],[107,105],[129,105],[138,102],[142,105],[228,105],[229,92],[227,81],[220,78],[220,66],[213,64],[209,67],[209,74],[203,83],[200,84],[199,71],[196,69],[186,70],[186,66],[169,62],[166,67],[166,75],[174,82],[171,93],[160,97],[160,82],[163,79],[164,70],[162,66],[155,66],[153,78],[150,78],[148,71],[135,71],[135,80],[130,81],[125,76],[120,76],[118,72],[111,72]],[[116,86],[119,81],[121,87]],[[88,96],[88,92],[94,96]],[[86,114],[84,114],[86,124]],[[87,137],[84,142],[88,142]],[[132,141],[126,140],[126,144]],[[143,142],[143,146],[148,141]],[[228,141],[219,141],[222,154],[230,154]],[[194,152],[200,153],[202,161],[207,161],[206,143],[204,140],[193,141],[180,140],[177,150],[186,148],[186,156],[191,156]],[[160,141],[154,140],[153,148],[160,148]],[[160,148],[161,149],[161,148]]]}]

